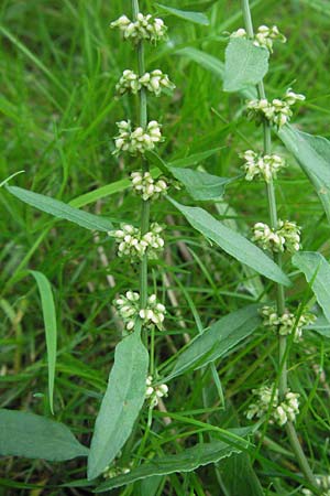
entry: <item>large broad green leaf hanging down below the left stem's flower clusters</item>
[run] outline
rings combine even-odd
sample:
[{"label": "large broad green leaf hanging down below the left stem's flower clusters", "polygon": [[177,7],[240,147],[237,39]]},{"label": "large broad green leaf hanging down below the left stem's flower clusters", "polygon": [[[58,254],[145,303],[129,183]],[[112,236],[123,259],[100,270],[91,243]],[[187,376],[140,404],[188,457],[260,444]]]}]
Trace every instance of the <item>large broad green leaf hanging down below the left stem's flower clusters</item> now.
[{"label": "large broad green leaf hanging down below the left stem's flower clusters", "polygon": [[100,475],[132,432],[145,397],[148,355],[140,332],[116,348],[108,388],[96,420],[88,456],[88,479]]}]

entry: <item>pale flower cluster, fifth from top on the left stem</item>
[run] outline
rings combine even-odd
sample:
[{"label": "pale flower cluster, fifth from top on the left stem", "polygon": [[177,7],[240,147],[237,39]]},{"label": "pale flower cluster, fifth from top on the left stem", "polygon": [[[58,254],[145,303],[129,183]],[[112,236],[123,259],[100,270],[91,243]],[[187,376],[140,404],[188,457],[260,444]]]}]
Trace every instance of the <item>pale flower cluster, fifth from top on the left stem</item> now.
[{"label": "pale flower cluster, fifth from top on the left stem", "polygon": [[121,228],[109,231],[110,236],[114,236],[118,246],[118,255],[120,257],[130,257],[131,260],[141,259],[145,254],[150,259],[158,258],[160,251],[164,248],[164,239],[161,237],[162,226],[153,223],[150,231],[141,235],[141,230],[130,224],[122,224]]}]

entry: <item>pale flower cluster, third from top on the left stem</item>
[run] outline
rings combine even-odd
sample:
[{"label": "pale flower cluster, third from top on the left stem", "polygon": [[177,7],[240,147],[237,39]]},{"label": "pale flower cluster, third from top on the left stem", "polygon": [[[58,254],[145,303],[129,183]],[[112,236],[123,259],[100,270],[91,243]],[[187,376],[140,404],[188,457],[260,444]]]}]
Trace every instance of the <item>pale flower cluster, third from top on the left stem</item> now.
[{"label": "pale flower cluster, third from top on the left stem", "polygon": [[114,138],[116,151],[119,154],[128,151],[132,155],[153,150],[155,143],[162,141],[161,125],[156,120],[148,122],[146,129],[142,127],[132,130],[129,120],[117,122],[119,134]]}]

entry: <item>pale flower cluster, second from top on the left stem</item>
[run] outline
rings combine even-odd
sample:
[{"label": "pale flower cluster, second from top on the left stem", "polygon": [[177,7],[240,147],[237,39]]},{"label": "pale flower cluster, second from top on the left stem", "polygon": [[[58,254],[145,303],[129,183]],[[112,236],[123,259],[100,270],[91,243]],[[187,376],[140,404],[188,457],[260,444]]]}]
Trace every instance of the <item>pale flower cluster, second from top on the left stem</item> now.
[{"label": "pale flower cluster, second from top on the left stem", "polygon": [[160,96],[163,89],[174,89],[175,85],[169,80],[167,74],[164,74],[161,69],[145,73],[141,77],[134,71],[125,69],[116,85],[116,90],[119,95],[124,95],[128,91],[136,95],[142,87]]}]

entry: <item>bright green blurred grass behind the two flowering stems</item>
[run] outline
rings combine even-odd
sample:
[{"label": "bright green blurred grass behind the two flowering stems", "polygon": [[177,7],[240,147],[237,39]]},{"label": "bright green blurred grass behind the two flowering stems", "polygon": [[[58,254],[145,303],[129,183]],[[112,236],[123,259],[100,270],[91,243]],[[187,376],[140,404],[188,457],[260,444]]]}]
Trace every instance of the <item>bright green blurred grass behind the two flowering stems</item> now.
[{"label": "bright green blurred grass behind the two flowering stems", "polygon": [[[224,94],[215,75],[177,52],[193,46],[223,60],[226,32],[242,25],[239,2],[200,0],[178,4],[166,0],[166,4],[200,10],[208,14],[210,25],[201,28],[165,17],[168,42],[147,50],[146,66],[161,67],[177,86],[173,97],[150,98],[151,118],[164,125],[166,141],[160,152],[170,161],[221,147],[205,161],[205,169],[223,176],[237,175],[240,171],[238,153],[251,147],[261,148],[261,130],[246,122],[242,115],[243,101],[238,96]],[[272,56],[267,94],[271,97],[282,95],[293,85],[307,97],[296,123],[305,131],[329,138],[328,2],[263,0],[252,2],[252,7],[255,25],[275,23],[288,37],[287,44],[277,45]],[[141,2],[141,10],[160,13],[151,1]],[[111,155],[116,121],[134,120],[138,104],[132,97],[113,98],[121,72],[135,67],[131,45],[120,42],[118,32],[109,30],[109,22],[123,12],[130,14],[130,2],[2,0],[0,182],[24,170],[12,184],[68,202],[117,182],[139,166],[135,159],[118,160]],[[283,152],[278,142],[274,148]],[[321,206],[293,159],[289,164],[277,182],[279,217],[288,217],[302,226],[305,249],[321,250],[328,256],[329,226]],[[184,192],[176,195],[184,203],[189,202]],[[110,218],[138,222],[139,205],[139,200],[124,191],[91,203],[87,209]],[[210,209],[248,234],[256,220],[267,219],[263,185],[237,182],[228,187],[224,202],[210,205]],[[153,266],[151,276],[151,284],[157,285],[169,309],[166,333],[156,341],[156,359],[161,365],[185,344],[184,331],[194,336],[199,320],[206,326],[243,306],[253,300],[253,293],[260,294],[265,281],[251,279],[239,263],[204,241],[168,203],[155,203],[153,218],[168,225],[166,257],[161,265]],[[36,269],[51,280],[56,301],[59,348],[56,419],[88,444],[113,349],[120,338],[110,303],[118,292],[138,287],[135,269],[116,258],[114,246],[106,236],[95,239],[77,226],[55,223],[3,190],[0,193],[0,233],[1,407],[50,416],[43,319],[35,283],[28,272],[28,269]],[[185,241],[186,248],[178,241]],[[103,254],[109,261],[107,267]],[[179,309],[169,305],[164,273]],[[108,279],[113,277],[110,281],[114,282],[113,288],[107,276]],[[271,289],[267,283],[265,289]],[[288,296],[293,304],[311,296],[302,278],[296,278]],[[274,344],[272,336],[256,333],[237,353],[217,364],[228,405],[233,406],[242,423],[249,391],[274,374]],[[298,431],[316,473],[320,474],[329,472],[327,352],[329,342],[309,333],[295,347],[290,369],[290,384],[304,399]],[[326,381],[318,378],[319,366],[324,368]],[[207,419],[226,424],[226,414],[219,410],[215,395],[208,371],[190,374],[172,385],[166,407],[169,413],[180,412],[189,422]],[[213,414],[222,417],[216,420]],[[130,451],[136,450],[144,421],[142,417],[135,439],[123,452],[123,463],[130,460]],[[143,456],[151,451],[182,450],[202,435],[207,438],[198,427],[184,420],[173,420],[170,427],[164,427],[157,411],[153,430]],[[176,441],[178,435],[184,439],[180,445]],[[288,453],[282,454],[277,444],[270,445],[271,439]],[[257,459],[254,468],[265,494],[299,494],[298,484],[294,482],[297,466],[285,435],[270,430],[263,444],[253,451],[253,457],[258,453],[263,457]],[[85,477],[84,465],[82,460],[50,465],[42,461],[4,459],[0,492],[3,495],[90,494],[90,488],[61,487]],[[221,472],[221,466],[219,470]],[[193,474],[172,475],[158,483],[154,493],[136,484],[133,489],[113,490],[113,494],[235,496],[226,493],[223,486],[220,488],[213,466]],[[33,488],[34,485],[41,488]]]}]

